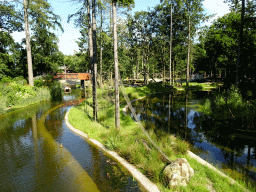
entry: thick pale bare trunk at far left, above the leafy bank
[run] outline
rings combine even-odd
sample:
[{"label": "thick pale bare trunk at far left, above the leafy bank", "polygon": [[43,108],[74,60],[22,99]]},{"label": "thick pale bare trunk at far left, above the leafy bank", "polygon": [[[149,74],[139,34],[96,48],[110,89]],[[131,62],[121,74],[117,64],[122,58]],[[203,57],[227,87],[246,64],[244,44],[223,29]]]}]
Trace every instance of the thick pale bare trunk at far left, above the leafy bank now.
[{"label": "thick pale bare trunk at far left, above the leafy bank", "polygon": [[30,35],[29,35],[29,24],[28,24],[28,2],[27,2],[27,0],[23,0],[23,4],[24,4],[23,7],[24,7],[26,45],[27,45],[28,82],[29,82],[30,86],[34,86]]}]

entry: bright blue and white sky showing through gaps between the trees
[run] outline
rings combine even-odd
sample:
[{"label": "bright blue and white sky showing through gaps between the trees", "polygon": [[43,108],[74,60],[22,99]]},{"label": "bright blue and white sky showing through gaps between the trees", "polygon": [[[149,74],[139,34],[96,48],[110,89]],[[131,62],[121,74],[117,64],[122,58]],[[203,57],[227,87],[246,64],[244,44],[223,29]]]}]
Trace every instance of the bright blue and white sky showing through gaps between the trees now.
[{"label": "bright blue and white sky showing through gaps between the trees", "polygon": [[[74,51],[79,51],[75,40],[80,37],[80,33],[79,29],[72,23],[67,23],[67,17],[69,14],[77,12],[78,5],[70,3],[70,0],[49,0],[49,2],[54,9],[54,13],[62,18],[64,33],[60,31],[56,33],[59,37],[59,49],[65,55],[73,55]],[[159,3],[160,0],[135,0],[135,8],[132,11],[147,11],[148,7],[154,7]],[[207,23],[209,25],[217,17],[229,12],[228,5],[223,3],[223,0],[204,0],[203,6],[208,14],[217,14]],[[14,32],[12,35],[17,42],[21,42],[21,39],[25,38],[25,32]]]}]

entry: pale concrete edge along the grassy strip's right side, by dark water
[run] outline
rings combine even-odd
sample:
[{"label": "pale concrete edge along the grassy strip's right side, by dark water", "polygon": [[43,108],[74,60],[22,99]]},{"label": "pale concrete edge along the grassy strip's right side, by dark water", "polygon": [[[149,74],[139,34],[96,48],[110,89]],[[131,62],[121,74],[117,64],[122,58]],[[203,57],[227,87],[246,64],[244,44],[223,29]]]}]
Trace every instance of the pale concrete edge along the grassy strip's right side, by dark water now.
[{"label": "pale concrete edge along the grassy strip's right side, by dark water", "polygon": [[[162,93],[162,92],[156,92],[156,93]],[[156,94],[156,93],[151,93],[151,94],[149,94],[149,95]],[[149,96],[149,95],[140,97],[140,98],[138,98],[138,99],[134,99],[134,100],[131,101],[131,103],[132,103],[132,102],[135,102],[135,101],[137,101],[137,100],[143,99],[143,98],[145,98],[145,97],[147,97],[147,96]],[[123,112],[124,112],[125,115],[126,115],[126,112],[127,112],[127,108],[128,108],[128,107],[129,107],[129,106],[126,105],[126,106],[123,108]],[[188,152],[188,155],[189,155],[191,158],[197,160],[197,161],[198,161],[199,163],[201,163],[202,165],[207,166],[208,168],[210,168],[210,169],[216,171],[216,172],[217,172],[218,174],[220,174],[222,177],[228,178],[229,182],[230,182],[232,185],[237,184],[237,185],[238,185],[240,188],[242,188],[244,191],[250,192],[248,189],[245,189],[243,186],[241,186],[239,183],[237,183],[234,179],[230,178],[229,176],[227,176],[227,175],[224,174],[223,172],[219,171],[217,168],[215,168],[213,165],[211,165],[210,163],[208,163],[207,161],[205,161],[205,160],[202,159],[201,157],[197,156],[196,154],[194,154],[193,152],[191,152],[191,151],[189,151],[189,150],[187,150],[187,152]]]}]

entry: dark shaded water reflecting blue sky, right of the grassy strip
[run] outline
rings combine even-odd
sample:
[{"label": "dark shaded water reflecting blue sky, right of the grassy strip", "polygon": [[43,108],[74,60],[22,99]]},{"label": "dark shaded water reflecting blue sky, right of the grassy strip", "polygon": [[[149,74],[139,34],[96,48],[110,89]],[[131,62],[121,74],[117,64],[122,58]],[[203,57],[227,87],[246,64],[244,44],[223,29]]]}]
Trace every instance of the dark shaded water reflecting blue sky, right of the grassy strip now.
[{"label": "dark shaded water reflecting blue sky, right of the grassy strip", "polygon": [[189,141],[193,152],[215,166],[235,169],[256,181],[255,137],[234,130],[230,123],[204,117],[198,112],[198,98],[198,92],[156,94],[133,106],[146,127],[152,129],[147,125],[154,123],[158,129]]}]

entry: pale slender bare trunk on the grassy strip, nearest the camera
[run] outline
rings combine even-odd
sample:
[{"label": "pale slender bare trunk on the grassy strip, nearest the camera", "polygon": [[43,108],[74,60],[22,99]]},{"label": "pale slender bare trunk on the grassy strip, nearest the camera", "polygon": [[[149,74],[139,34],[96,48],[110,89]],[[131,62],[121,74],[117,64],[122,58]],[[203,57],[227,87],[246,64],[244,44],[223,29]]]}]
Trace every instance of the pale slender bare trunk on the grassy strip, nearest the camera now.
[{"label": "pale slender bare trunk on the grassy strip, nearest the camera", "polygon": [[113,0],[113,36],[114,36],[114,65],[115,65],[115,126],[120,128],[119,111],[119,75],[118,75],[118,57],[117,57],[117,31],[116,31],[116,0]]}]

